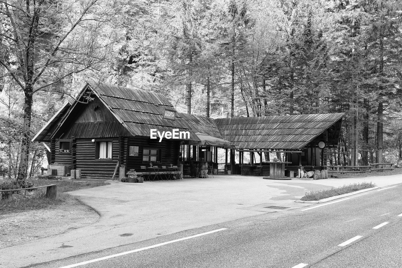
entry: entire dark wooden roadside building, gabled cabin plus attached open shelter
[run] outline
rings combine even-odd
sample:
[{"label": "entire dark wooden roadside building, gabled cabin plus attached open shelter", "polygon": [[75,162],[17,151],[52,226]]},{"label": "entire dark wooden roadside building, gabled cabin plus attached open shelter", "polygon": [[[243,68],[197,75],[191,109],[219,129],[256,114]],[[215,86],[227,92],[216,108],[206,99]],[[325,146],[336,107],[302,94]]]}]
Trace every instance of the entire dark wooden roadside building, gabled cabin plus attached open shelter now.
[{"label": "entire dark wooden roadside building, gabled cabin plus attached open shelter", "polygon": [[[284,153],[287,171],[301,165],[306,170],[319,166],[320,150],[324,156],[319,144],[337,146],[342,117],[343,113],[328,113],[214,120],[178,113],[160,93],[88,82],[32,140],[50,145],[49,165],[57,175],[80,169],[83,178],[110,179],[115,171],[119,176],[119,166],[125,167],[126,173],[129,169],[139,171],[151,162],[189,165],[201,160],[203,152],[212,155],[214,163],[209,165],[217,168],[218,147],[226,148],[226,159],[231,149],[232,174],[267,175],[269,165],[262,160],[267,151]],[[178,129],[189,135],[159,142],[150,138],[151,129]],[[185,144],[193,145],[190,159],[185,159]],[[234,148],[239,154],[238,164],[234,163]],[[259,164],[250,158],[251,166],[261,166],[259,173],[244,165],[244,152],[260,155]]]}]

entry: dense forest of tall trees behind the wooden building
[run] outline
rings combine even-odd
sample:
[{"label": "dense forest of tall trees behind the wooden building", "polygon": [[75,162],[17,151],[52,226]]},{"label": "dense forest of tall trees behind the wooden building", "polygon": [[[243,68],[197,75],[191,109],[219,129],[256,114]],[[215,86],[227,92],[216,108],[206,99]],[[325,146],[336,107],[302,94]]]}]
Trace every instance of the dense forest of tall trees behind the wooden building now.
[{"label": "dense forest of tall trees behind the wooden building", "polygon": [[0,177],[86,80],[213,118],[345,113],[330,165],[402,157],[400,0],[1,0]]}]

